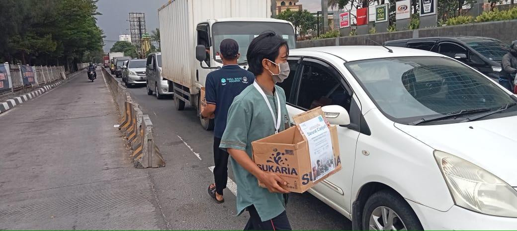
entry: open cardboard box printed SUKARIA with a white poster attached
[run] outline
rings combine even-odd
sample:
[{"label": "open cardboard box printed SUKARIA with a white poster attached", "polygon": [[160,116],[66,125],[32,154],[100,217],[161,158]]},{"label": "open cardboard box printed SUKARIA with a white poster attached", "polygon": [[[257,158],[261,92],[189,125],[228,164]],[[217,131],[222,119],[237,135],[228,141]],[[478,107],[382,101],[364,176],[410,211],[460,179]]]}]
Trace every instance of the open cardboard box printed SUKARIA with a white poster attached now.
[{"label": "open cardboard box printed SUKARIA with a white poster attached", "polygon": [[[328,124],[321,107],[293,119],[295,127],[251,143],[253,161],[284,179],[285,190],[303,193],[341,170],[338,131]],[[265,187],[260,181],[258,185]]]}]

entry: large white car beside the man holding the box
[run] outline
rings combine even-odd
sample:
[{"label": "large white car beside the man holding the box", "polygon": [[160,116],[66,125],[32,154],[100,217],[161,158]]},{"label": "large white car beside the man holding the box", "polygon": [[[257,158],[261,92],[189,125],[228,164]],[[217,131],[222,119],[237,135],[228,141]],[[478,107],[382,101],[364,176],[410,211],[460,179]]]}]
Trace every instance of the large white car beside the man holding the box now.
[{"label": "large white car beside the man holding the box", "polygon": [[452,58],[381,46],[294,49],[290,115],[339,125],[342,170],[309,190],[354,229],[517,228],[517,98]]}]

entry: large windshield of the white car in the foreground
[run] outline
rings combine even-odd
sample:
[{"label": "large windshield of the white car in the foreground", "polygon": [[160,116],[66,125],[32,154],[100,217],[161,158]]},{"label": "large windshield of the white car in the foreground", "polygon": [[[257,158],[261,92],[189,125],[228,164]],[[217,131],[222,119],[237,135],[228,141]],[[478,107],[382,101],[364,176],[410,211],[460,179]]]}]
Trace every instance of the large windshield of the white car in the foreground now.
[{"label": "large windshield of the white car in the foreground", "polygon": [[515,102],[485,76],[445,57],[370,59],[345,66],[377,107],[400,124]]}]

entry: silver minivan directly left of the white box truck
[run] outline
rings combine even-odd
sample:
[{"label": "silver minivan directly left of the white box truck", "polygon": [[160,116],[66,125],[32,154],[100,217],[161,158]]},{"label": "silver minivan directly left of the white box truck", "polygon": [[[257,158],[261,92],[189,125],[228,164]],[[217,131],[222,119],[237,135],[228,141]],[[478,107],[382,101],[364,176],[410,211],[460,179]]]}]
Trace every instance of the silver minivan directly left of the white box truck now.
[{"label": "silver minivan directly left of the white box truck", "polygon": [[156,96],[157,99],[162,99],[163,96],[173,95],[173,91],[169,91],[169,82],[162,78],[162,62],[161,53],[150,53],[147,56],[147,64],[145,68],[147,76],[147,95]]}]

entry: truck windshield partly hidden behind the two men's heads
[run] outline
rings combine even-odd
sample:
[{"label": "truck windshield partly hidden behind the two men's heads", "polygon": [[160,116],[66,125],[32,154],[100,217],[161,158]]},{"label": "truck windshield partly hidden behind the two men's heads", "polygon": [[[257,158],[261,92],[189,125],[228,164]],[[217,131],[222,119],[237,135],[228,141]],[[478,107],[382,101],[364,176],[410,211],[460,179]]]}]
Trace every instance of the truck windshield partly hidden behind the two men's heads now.
[{"label": "truck windshield partly hidden behind the two men's heads", "polygon": [[248,60],[246,53],[248,52],[251,40],[266,30],[272,30],[277,33],[277,35],[282,36],[287,40],[290,49],[295,48],[294,29],[291,24],[280,22],[218,22],[212,26],[212,32],[214,34],[214,54],[212,57],[215,58],[218,63],[222,63],[221,57],[219,56],[219,46],[222,40],[231,38],[239,44],[240,57],[237,60],[238,63],[245,64]]}]

